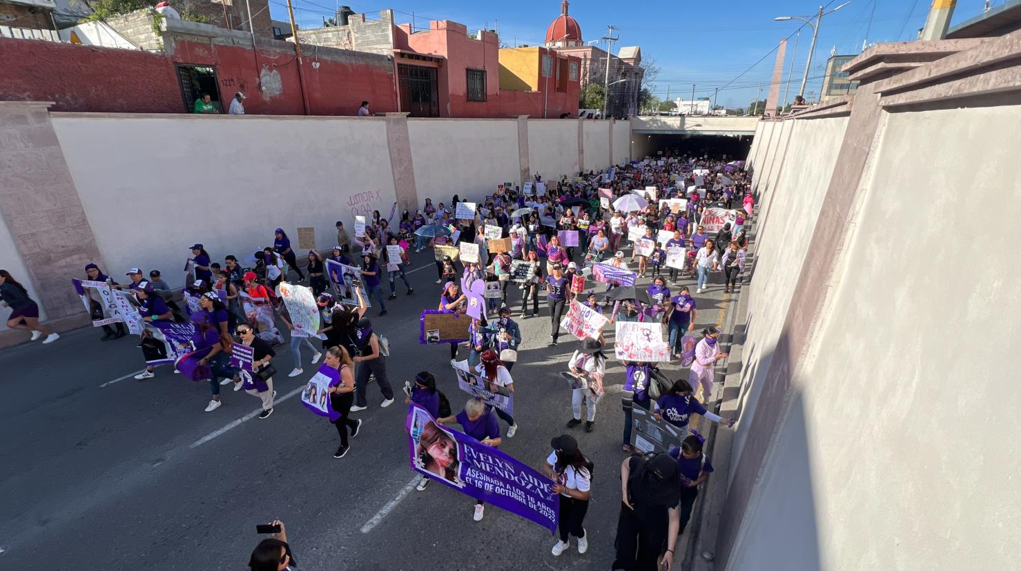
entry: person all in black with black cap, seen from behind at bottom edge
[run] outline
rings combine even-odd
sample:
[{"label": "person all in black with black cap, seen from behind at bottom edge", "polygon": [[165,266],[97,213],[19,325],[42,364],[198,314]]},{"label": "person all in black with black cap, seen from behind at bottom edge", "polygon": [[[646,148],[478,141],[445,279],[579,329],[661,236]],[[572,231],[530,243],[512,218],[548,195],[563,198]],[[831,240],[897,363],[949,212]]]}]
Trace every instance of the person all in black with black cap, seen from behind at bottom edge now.
[{"label": "person all in black with black cap, seen from behind at bottom edge", "polygon": [[[635,454],[621,463],[621,512],[617,519],[613,569],[673,569],[680,529],[681,478],[667,453]],[[663,553],[664,542],[667,544]]]}]

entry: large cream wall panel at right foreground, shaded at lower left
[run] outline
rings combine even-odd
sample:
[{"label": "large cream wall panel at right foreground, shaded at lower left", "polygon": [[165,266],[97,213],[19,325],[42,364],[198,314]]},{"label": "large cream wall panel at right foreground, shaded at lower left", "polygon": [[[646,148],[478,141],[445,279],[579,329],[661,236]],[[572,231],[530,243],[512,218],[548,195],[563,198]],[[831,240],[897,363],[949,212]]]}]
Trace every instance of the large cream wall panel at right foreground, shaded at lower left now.
[{"label": "large cream wall panel at right foreground, shaded at lower left", "polygon": [[1021,107],[883,120],[732,569],[1021,568]]}]

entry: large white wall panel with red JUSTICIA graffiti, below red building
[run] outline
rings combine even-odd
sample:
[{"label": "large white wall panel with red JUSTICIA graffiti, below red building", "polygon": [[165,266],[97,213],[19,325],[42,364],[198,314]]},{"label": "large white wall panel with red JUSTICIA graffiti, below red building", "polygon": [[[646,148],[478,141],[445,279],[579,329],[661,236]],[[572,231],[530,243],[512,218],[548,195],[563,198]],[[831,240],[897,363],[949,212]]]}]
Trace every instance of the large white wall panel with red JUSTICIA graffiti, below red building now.
[{"label": "large white wall panel with red JUSTICIA graffiti, below red building", "polygon": [[112,276],[140,266],[183,284],[188,247],[214,261],[273,244],[317,245],[394,203],[383,118],[54,114],[53,126]]}]

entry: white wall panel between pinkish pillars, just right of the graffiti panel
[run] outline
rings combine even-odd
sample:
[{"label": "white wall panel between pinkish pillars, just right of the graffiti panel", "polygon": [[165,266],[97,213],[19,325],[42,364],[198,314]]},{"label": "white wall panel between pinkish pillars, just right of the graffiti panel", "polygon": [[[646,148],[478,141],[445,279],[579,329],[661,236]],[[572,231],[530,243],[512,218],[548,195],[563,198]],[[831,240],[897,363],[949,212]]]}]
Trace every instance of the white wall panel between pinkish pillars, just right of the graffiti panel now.
[{"label": "white wall panel between pinkish pillars, just right of the graffiti panel", "polygon": [[[577,138],[576,123],[558,122]],[[499,183],[521,183],[518,119],[408,118],[407,134],[420,205],[428,197],[449,206],[453,195],[478,202]],[[576,145],[575,162],[577,153]]]}]

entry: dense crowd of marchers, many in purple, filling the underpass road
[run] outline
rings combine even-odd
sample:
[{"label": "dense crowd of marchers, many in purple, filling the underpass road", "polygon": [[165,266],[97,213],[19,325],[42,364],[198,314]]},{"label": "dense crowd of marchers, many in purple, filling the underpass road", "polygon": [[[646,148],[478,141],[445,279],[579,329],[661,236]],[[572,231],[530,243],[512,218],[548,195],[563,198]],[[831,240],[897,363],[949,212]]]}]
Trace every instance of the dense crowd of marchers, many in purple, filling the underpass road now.
[{"label": "dense crowd of marchers, many in purple, filling the underpass road", "polygon": [[[743,164],[666,152],[604,172],[498,185],[484,201],[471,203],[471,218],[458,214],[465,212],[466,202],[456,195],[449,202],[426,199],[414,212],[394,211],[391,219],[375,211],[353,237],[338,221],[336,246],[329,253],[311,250],[304,257],[295,252],[284,228],[268,232],[272,246],[244,256],[243,261],[227,255],[220,263],[203,244],[194,244],[188,249],[188,282],[181,297],[157,269],[146,275],[132,267],[126,280],[118,278],[121,283],[90,263],[81,279],[106,283],[132,300],[141,319],[142,361],[156,360],[159,351],[153,340],[158,323],[153,322],[193,325],[187,349],[194,367],[189,367],[187,376],[208,383],[211,397],[206,412],[222,405],[221,386],[228,386],[258,398],[262,407],[258,418],[269,417],[277,394],[273,375],[282,360],[279,346],[288,344],[292,365],[288,377],[305,375],[306,367],[314,366],[313,374],[328,380],[323,385],[309,381],[302,400],[306,405],[307,399],[321,400],[323,410],[332,414],[330,421],[339,435],[335,458],[349,452],[350,439],[359,432],[362,420],[352,415],[369,408],[372,381],[383,397],[380,407],[389,407],[396,399],[387,369],[389,344],[367,313],[371,305],[377,316],[385,316],[386,302],[397,298],[398,281],[406,296],[414,296],[407,271],[411,254],[432,254],[426,263],[431,271],[435,261],[440,284],[438,299],[423,301],[420,309],[467,315],[478,299],[479,284],[494,293],[483,299],[480,311],[472,312],[467,340],[448,344],[452,368],[478,378],[494,394],[514,394],[512,371],[525,355],[521,320],[540,318],[540,306],[547,310],[550,346],[561,343],[564,334],[571,335],[562,321],[574,302],[606,317],[610,324],[659,324],[669,348],[666,359],[617,359],[601,330],[575,342],[564,363],[571,383],[565,402],[568,432],[552,438],[541,469],[560,498],[560,534],[552,555],[569,549],[572,537],[578,553],[584,554],[594,466],[569,432],[597,429],[597,411],[609,408],[603,403],[607,369],[619,362],[624,416],[620,447],[628,456],[620,467],[614,569],[655,569],[661,561],[669,569],[698,486],[713,471],[702,453],[704,438],[690,429],[691,415],[733,424],[732,419],[711,412],[715,364],[727,354],[721,351],[717,327],[696,331],[695,296],[715,288],[732,293],[745,272],[755,198]],[[719,209],[736,215],[722,224],[703,223],[707,212]],[[567,243],[565,237],[570,237]],[[460,255],[465,243],[475,245],[470,256]],[[680,258],[677,252],[682,252]],[[416,263],[421,264],[420,259]],[[331,273],[332,264],[356,268],[357,275],[344,281]],[[637,280],[599,279],[593,269],[596,264],[610,271],[634,272],[636,279],[649,282],[643,287]],[[301,331],[299,319],[282,302],[286,294],[282,284],[288,283],[310,290],[319,311],[318,330]],[[348,289],[346,299],[341,299],[340,287]],[[9,327],[31,330],[33,340],[46,335],[43,343],[58,339],[38,324],[38,306],[5,270],[0,270],[0,297],[11,308]],[[104,319],[109,316],[107,300],[98,290],[85,290],[85,299],[94,320],[109,321],[102,324],[102,341],[129,334],[126,323]],[[249,369],[242,370],[232,359],[238,351],[250,354]],[[185,374],[182,368],[178,361],[174,372]],[[436,421],[419,435],[425,467],[419,490],[453,469],[452,442],[441,427],[457,425],[468,436],[493,448],[519,431],[514,414],[478,398],[451,409],[448,396],[453,388],[444,394],[440,385],[450,386],[447,379],[452,372],[422,371],[414,380],[394,379],[404,390],[404,403],[425,409]],[[135,378],[153,376],[155,366],[147,364]],[[660,452],[636,450],[632,445],[636,407],[671,425],[681,446]],[[476,503],[476,520],[483,518],[484,508],[481,500]],[[290,557],[286,542],[268,549],[283,554],[281,562],[283,556]]]}]

